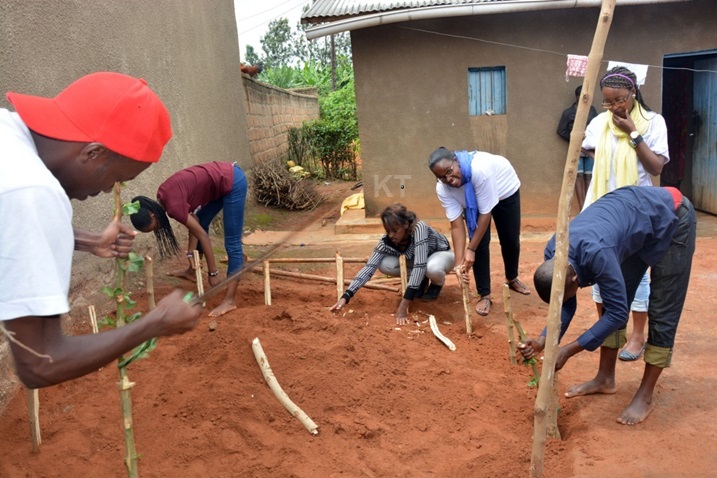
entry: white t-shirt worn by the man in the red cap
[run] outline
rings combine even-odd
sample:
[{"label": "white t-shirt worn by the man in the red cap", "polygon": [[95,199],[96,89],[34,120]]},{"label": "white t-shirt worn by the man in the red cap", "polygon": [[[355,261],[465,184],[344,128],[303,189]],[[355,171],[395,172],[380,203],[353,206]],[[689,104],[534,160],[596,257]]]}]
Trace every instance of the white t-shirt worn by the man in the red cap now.
[{"label": "white t-shirt worn by the man in the red cap", "polygon": [[72,206],[17,113],[0,108],[0,320],[69,311]]}]

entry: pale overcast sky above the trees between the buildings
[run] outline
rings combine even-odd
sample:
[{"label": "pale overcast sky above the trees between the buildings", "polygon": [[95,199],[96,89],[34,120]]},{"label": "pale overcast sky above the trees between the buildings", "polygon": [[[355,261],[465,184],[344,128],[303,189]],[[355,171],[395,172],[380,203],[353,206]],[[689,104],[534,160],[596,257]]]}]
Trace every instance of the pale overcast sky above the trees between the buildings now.
[{"label": "pale overcast sky above the trees between the buildings", "polygon": [[261,51],[259,39],[266,34],[269,22],[288,18],[289,26],[295,30],[304,5],[310,3],[311,0],[234,0],[242,60],[247,45],[253,46],[257,52]]}]

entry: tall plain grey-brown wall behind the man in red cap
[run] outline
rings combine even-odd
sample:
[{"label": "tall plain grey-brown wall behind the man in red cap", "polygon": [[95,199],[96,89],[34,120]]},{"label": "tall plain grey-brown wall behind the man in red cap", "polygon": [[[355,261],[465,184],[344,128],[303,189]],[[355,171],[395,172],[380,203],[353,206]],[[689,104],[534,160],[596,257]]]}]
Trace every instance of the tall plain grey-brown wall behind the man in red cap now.
[{"label": "tall plain grey-brown wall behind the man in red cap", "polygon": [[[170,112],[174,136],[161,161],[124,188],[154,196],[171,173],[206,161],[251,165],[239,45],[231,0],[5,0],[0,2],[0,90],[54,96],[80,76],[142,77]],[[0,107],[8,107],[3,94]],[[73,201],[75,227],[99,231],[111,195]],[[138,246],[149,248],[151,235]],[[76,254],[73,302],[107,283],[112,261]]]}]

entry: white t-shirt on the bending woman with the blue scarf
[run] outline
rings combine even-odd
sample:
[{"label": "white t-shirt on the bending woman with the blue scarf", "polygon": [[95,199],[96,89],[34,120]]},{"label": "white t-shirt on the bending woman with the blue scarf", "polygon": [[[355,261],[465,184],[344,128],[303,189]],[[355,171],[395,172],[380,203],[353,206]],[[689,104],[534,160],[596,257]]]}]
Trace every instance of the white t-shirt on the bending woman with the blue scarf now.
[{"label": "white t-shirt on the bending woman with the blue scarf", "polygon": [[[471,183],[478,202],[478,212],[490,214],[498,201],[512,196],[520,189],[520,179],[513,165],[503,156],[483,151],[473,151],[470,154],[473,155]],[[461,217],[466,207],[465,189],[465,185],[454,188],[442,182],[436,183],[436,194],[451,222]]]}]

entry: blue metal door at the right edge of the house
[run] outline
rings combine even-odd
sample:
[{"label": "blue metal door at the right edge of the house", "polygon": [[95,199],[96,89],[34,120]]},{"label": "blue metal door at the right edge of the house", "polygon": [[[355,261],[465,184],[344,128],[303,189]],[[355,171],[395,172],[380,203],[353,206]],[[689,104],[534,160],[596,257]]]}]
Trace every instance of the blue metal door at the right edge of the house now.
[{"label": "blue metal door at the right edge of the house", "polygon": [[694,65],[694,108],[700,128],[692,160],[692,199],[697,209],[717,214],[717,74],[712,73],[717,71],[717,57]]}]

